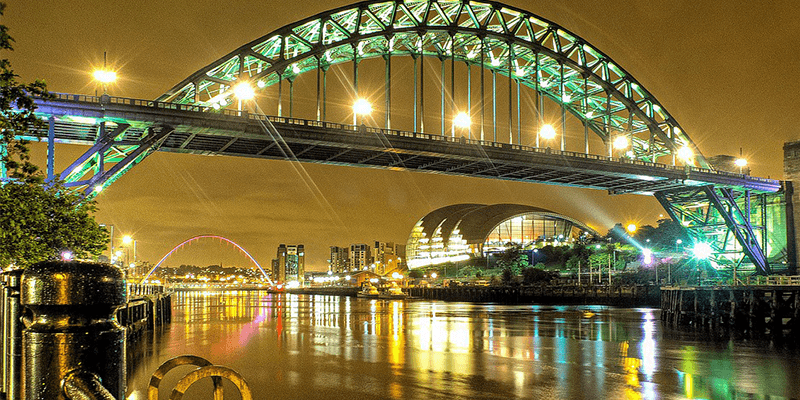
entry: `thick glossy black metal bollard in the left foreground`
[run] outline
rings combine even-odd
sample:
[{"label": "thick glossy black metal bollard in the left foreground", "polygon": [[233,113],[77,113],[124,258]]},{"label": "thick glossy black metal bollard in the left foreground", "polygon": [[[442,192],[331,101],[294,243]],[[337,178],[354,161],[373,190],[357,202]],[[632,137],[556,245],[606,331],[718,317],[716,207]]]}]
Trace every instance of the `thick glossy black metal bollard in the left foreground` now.
[{"label": "thick glossy black metal bollard in the left foreground", "polygon": [[64,390],[74,385],[67,378],[76,374],[93,374],[111,396],[125,398],[125,331],[115,319],[125,295],[123,273],[112,265],[52,261],[25,269],[21,300],[33,312],[23,333],[26,400],[68,399]]}]

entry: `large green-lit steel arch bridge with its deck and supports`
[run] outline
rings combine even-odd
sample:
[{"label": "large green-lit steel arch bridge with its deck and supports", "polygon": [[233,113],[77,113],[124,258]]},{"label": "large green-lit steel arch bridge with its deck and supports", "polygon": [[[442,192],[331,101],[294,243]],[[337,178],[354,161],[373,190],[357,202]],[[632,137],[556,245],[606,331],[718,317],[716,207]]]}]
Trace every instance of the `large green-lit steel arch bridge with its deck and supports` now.
[{"label": "large green-lit steel arch bridge with its deck and supports", "polygon": [[[400,56],[414,62],[413,101],[403,105],[413,108],[410,130],[391,129],[392,113],[403,108],[392,106],[391,92],[392,59]],[[385,129],[325,121],[328,70],[352,63],[351,89],[358,97],[359,65],[381,58]],[[440,115],[438,121],[432,119],[439,122],[437,134],[428,129],[432,124],[425,116],[424,59],[439,60],[442,67]],[[467,66],[466,90],[456,85],[457,63]],[[480,72],[479,85],[472,82],[473,66]],[[295,118],[294,82],[312,71],[317,79],[316,119]],[[485,71],[491,74],[490,122]],[[497,134],[498,76],[509,85],[507,142]],[[289,86],[289,118],[281,108],[284,83]],[[277,86],[278,116],[235,107],[236,89],[243,84],[255,91]],[[480,91],[475,107],[473,86]],[[520,117],[521,89],[535,96],[533,106],[526,108],[535,116],[532,123],[523,124]],[[480,114],[481,140],[456,138],[455,124],[448,122],[460,111],[457,103],[463,97],[465,109]],[[545,99],[560,109],[560,143],[540,135]],[[553,22],[501,3],[361,2],[254,40],[156,101],[64,94],[37,104],[37,114],[48,122],[47,132],[32,132],[31,137],[48,137],[49,177],[56,177],[53,143],[91,146],[58,175],[86,197],[97,195],[156,150],[404,168],[654,195],[696,242],[712,246],[717,266],[752,265],[766,274],[770,263],[786,260],[781,182],[714,170],[666,108],[610,57]],[[572,146],[581,151],[566,151],[567,115],[583,127],[583,143]],[[523,125],[536,131],[535,146],[522,145]],[[590,152],[590,132],[602,142],[600,151]],[[619,139],[623,151],[615,149]]]}]

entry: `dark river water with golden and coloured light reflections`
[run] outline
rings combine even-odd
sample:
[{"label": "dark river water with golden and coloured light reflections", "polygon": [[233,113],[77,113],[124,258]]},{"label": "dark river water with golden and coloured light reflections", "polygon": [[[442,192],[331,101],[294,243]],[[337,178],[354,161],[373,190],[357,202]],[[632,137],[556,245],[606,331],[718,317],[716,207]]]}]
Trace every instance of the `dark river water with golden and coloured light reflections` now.
[{"label": "dark river water with golden and coloured light reflections", "polygon": [[[178,292],[172,323],[130,347],[128,399],[183,354],[238,371],[254,399],[800,398],[800,350],[710,341],[648,308]],[[184,396],[211,398],[204,381]]]}]

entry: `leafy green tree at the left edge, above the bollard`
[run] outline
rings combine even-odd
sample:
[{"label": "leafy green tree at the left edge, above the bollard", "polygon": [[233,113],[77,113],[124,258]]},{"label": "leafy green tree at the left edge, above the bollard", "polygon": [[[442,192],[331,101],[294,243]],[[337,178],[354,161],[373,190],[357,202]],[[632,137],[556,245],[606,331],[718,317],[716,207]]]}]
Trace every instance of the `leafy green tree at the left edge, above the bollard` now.
[{"label": "leafy green tree at the left edge, above the bollard", "polygon": [[[0,3],[0,16],[5,6]],[[13,41],[0,25],[0,50],[13,50]],[[0,60],[0,169],[11,178],[0,182],[0,268],[24,268],[57,258],[62,250],[79,258],[99,255],[108,233],[90,215],[95,204],[55,182],[44,186],[28,143],[17,140],[41,128],[33,96],[51,97],[43,81],[25,84],[18,77],[8,59]]]}]

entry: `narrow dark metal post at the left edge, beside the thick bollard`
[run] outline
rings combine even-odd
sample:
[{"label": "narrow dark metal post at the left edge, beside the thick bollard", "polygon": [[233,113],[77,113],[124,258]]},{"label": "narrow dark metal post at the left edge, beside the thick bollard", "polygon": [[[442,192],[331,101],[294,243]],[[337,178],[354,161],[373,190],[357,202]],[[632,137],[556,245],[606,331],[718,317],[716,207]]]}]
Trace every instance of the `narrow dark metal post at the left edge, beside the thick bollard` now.
[{"label": "narrow dark metal post at the left edge, beside the thick bollard", "polygon": [[6,400],[22,398],[22,307],[19,280],[22,270],[4,272],[3,290],[3,377]]}]

